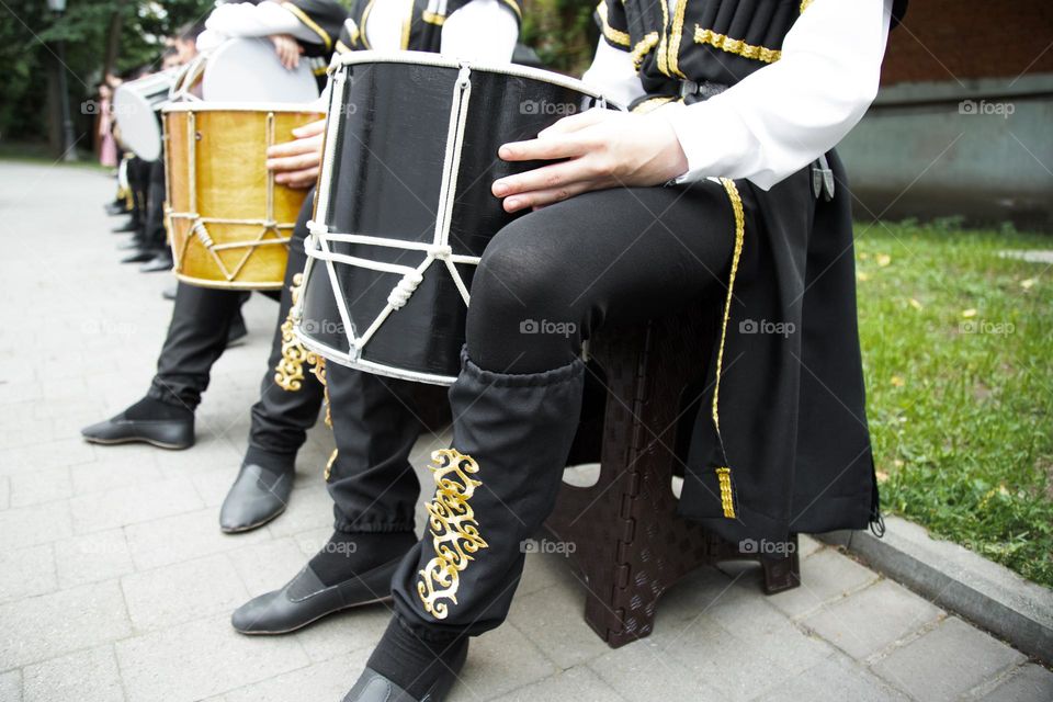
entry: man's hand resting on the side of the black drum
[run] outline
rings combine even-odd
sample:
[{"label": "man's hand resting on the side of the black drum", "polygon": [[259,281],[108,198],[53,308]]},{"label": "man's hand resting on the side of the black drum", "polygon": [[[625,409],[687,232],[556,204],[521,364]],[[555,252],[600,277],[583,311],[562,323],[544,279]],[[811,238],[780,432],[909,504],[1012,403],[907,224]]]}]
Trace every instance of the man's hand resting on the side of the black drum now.
[{"label": "man's hand resting on the side of the black drum", "polygon": [[505,144],[506,161],[561,160],[508,176],[491,192],[506,212],[543,207],[591,190],[666,183],[688,170],[672,126],[654,114],[593,109],[564,117],[529,141]]}]

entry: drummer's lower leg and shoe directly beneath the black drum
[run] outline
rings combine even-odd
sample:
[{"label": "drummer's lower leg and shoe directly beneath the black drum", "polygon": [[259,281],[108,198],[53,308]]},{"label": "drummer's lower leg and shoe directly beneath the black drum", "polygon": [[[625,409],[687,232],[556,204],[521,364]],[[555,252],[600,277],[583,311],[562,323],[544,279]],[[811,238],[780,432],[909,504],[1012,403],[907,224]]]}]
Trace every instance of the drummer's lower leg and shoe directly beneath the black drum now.
[{"label": "drummer's lower leg and shoe directly beneath the black drum", "polygon": [[392,575],[417,543],[420,485],[409,453],[420,432],[408,383],[326,364],[337,449],[325,478],[335,531],[284,587],[231,616],[246,634],[295,631],[327,614],[390,597]]}]

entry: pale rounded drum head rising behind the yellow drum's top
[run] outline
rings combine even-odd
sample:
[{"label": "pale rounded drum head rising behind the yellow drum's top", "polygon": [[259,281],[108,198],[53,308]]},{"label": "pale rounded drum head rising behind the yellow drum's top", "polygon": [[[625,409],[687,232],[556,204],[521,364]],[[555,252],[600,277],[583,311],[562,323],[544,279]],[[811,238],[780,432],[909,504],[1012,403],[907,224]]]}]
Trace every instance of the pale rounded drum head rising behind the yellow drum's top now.
[{"label": "pale rounded drum head rising behind the yellow drum's top", "polygon": [[224,102],[312,102],[318,99],[318,83],[307,64],[305,58],[287,70],[269,39],[230,39],[208,55],[202,97]]}]

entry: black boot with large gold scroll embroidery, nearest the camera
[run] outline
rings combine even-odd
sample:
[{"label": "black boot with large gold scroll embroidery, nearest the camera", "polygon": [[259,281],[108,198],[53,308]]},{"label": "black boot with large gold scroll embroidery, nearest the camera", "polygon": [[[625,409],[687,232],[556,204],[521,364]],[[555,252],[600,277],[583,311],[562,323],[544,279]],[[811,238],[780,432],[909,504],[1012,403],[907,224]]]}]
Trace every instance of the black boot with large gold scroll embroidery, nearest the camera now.
[{"label": "black boot with large gold scroll embroidery, nearest the camera", "polygon": [[450,388],[453,446],[432,454],[429,533],[399,564],[395,616],[344,702],[442,700],[463,663],[456,642],[466,650],[467,636],[505,621],[524,542],[555,507],[585,364],[502,374],[466,354],[462,363]]}]

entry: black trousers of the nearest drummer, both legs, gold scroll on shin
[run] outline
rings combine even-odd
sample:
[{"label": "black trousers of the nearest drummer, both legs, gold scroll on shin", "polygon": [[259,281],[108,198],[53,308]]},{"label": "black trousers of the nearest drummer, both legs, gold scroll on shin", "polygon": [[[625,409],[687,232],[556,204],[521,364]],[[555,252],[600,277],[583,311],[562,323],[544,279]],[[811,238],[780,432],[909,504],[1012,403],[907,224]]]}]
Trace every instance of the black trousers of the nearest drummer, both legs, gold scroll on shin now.
[{"label": "black trousers of the nearest drummer, both legs, gold scroll on shin", "polygon": [[[472,287],[453,446],[437,452],[429,530],[393,581],[420,635],[479,634],[508,613],[521,546],[548,516],[577,427],[582,340],[707,301],[723,304],[735,244],[724,188],[619,189],[528,214],[487,248]],[[333,320],[337,321],[337,320]],[[405,383],[327,364],[337,525],[411,524],[420,431]]]}]

